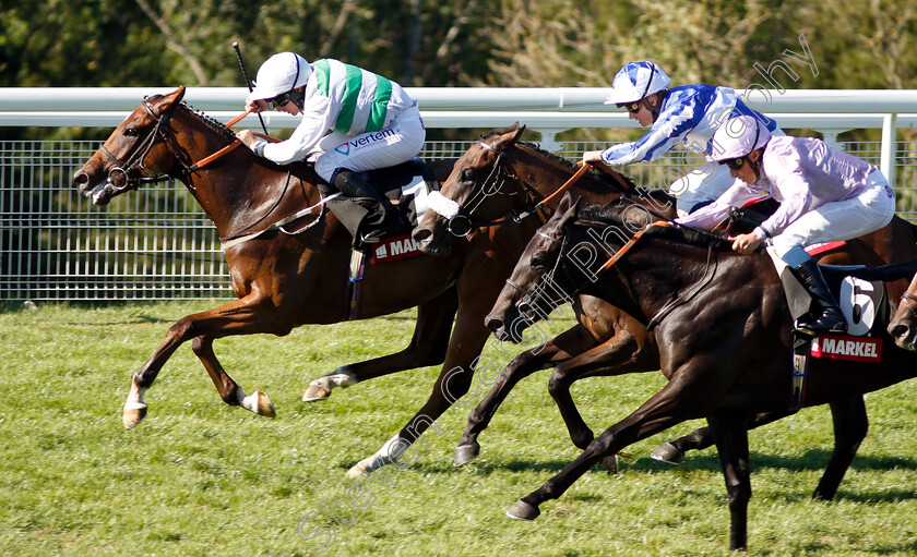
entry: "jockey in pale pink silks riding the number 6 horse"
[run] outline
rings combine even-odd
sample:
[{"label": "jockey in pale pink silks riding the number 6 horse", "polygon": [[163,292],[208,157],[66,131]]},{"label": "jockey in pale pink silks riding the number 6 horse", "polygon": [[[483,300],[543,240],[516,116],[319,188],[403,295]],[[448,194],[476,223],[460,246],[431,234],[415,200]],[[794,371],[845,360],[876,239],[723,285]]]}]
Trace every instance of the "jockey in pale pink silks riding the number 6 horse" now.
[{"label": "jockey in pale pink silks riding the number 6 horse", "polygon": [[733,249],[751,253],[763,243],[774,247],[809,290],[822,313],[797,319],[807,334],[843,332],[846,320],[818,264],[805,247],[851,240],[888,225],[895,213],[889,181],[873,165],[813,137],[772,136],[755,118],[725,122],[713,136],[711,159],[729,169],[736,183],[711,205],[675,222],[713,228],[729,207],[755,197],[781,203],[770,218],[733,240]]}]

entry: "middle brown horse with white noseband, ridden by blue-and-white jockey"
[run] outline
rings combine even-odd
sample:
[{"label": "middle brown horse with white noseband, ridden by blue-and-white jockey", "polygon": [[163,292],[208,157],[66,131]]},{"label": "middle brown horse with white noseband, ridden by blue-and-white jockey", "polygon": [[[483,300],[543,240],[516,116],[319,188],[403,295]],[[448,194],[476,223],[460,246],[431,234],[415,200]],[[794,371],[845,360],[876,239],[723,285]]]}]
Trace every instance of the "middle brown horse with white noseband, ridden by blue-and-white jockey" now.
[{"label": "middle brown horse with white noseband, ridden by blue-and-white jockey", "polygon": [[[457,215],[446,218],[428,211],[415,229],[414,238],[427,253],[449,253],[454,239],[454,234],[449,233],[451,229],[466,230],[468,222],[498,218],[509,210],[508,195],[523,193],[525,186],[515,181],[520,191],[508,191],[508,187],[512,186],[510,184],[501,190],[505,195],[492,195],[492,182],[499,179],[501,172],[511,175],[526,175],[531,172],[524,150],[513,148],[514,142],[517,141],[515,129],[505,130],[497,135],[499,141],[492,143],[498,146],[496,150],[485,145],[472,146],[456,162],[450,179],[443,183],[440,194],[461,209]],[[531,187],[538,187],[531,178],[528,183],[532,184]],[[548,191],[556,187],[551,184]],[[579,194],[581,189],[579,184],[573,184],[570,191]],[[633,187],[623,201],[655,209],[659,218],[675,216],[675,199],[660,191],[647,192]],[[521,241],[527,242],[529,239],[531,235],[522,237]],[[915,227],[896,217],[881,231],[850,241],[841,249],[821,254],[819,258],[821,263],[832,265],[882,265],[900,262],[917,257],[917,244],[914,240]],[[897,295],[906,282],[895,281],[886,286],[890,295]],[[592,441],[593,433],[580,416],[570,397],[572,383],[585,377],[646,373],[659,368],[658,351],[652,331],[647,331],[645,324],[632,316],[628,308],[616,307],[604,300],[582,294],[569,296],[567,301],[573,304],[579,324],[556,338],[522,352],[509,363],[492,389],[472,411],[455,451],[456,465],[468,462],[479,453],[478,436],[490,423],[509,391],[520,380],[539,370],[555,368],[548,390],[558,403],[573,444],[584,449]],[[590,311],[584,311],[584,307],[588,307]],[[862,397],[834,401],[831,410],[836,432],[835,447],[822,482],[815,491],[815,496],[825,499],[834,496],[868,428]],[[767,424],[791,413],[781,411],[755,416],[753,426]],[[713,443],[708,429],[703,427],[664,444],[653,456],[659,460],[680,462],[686,451],[703,449]],[[604,464],[611,468],[611,459]]]}]

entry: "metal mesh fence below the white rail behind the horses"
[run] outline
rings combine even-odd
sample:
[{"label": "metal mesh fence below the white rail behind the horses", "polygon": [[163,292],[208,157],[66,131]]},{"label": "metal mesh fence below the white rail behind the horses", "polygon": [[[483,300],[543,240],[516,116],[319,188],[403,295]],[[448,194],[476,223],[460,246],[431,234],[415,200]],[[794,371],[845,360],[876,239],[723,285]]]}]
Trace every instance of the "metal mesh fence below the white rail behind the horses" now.
[{"label": "metal mesh fence below the white rail behind the horses", "polygon": [[[468,142],[428,142],[421,157],[457,157]],[[576,160],[605,144],[563,143]],[[879,164],[880,144],[847,143]],[[216,229],[179,182],[142,187],[96,207],[78,195],[72,173],[95,142],[0,142],[0,299],[115,301],[227,299],[233,293]],[[917,144],[896,148],[898,214],[917,220]],[[627,169],[654,186],[663,170],[694,155],[674,153]]]}]

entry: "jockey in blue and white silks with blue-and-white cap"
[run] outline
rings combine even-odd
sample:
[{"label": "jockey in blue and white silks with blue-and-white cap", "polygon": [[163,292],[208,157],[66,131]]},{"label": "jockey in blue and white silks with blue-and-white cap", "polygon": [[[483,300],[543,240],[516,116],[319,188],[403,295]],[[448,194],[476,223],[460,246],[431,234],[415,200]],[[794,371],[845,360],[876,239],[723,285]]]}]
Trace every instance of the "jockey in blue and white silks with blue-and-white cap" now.
[{"label": "jockey in blue and white silks with blue-and-white cap", "polygon": [[[754,116],[772,134],[783,135],[777,123],[749,108],[735,89],[693,84],[667,88],[671,80],[653,62],[630,62],[615,75],[606,105],[627,108],[630,118],[640,125],[652,125],[640,140],[583,154],[586,162],[598,161],[612,166],[655,160],[678,144],[694,153],[710,154],[710,140],[720,123],[729,118]],[[669,193],[678,198],[679,215],[687,215],[713,202],[729,189],[735,180],[713,162],[676,180]]]}]

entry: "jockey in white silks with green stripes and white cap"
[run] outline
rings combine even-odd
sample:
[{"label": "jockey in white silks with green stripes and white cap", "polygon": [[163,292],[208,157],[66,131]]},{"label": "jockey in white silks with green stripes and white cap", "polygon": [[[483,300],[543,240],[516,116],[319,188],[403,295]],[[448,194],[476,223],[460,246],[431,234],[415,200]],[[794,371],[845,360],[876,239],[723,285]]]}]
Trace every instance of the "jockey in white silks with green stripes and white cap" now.
[{"label": "jockey in white silks with green stripes and white cap", "polygon": [[310,64],[299,55],[281,52],[258,70],[246,100],[252,112],[271,107],[302,114],[302,121],[284,142],[267,143],[243,130],[238,134],[242,143],[278,165],[314,162],[315,172],[344,195],[379,202],[385,225],[365,234],[364,242],[404,225],[359,174],[405,162],[424,146],[420,110],[401,85],[330,58]]}]

